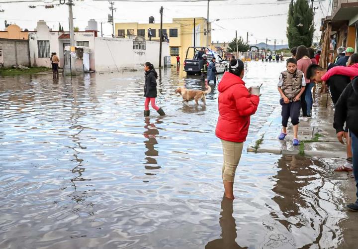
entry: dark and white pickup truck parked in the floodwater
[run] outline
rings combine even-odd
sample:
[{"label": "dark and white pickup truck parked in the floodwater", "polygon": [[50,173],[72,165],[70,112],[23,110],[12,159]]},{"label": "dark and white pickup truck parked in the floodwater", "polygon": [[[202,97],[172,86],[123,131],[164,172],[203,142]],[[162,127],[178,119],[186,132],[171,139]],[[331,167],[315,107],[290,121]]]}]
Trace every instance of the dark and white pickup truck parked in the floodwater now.
[{"label": "dark and white pickup truck parked in the floodwater", "polygon": [[[194,50],[194,56],[192,59],[188,59],[188,52],[189,49]],[[197,59],[197,53],[200,51],[201,47],[188,47],[186,50],[186,58],[184,61],[184,70],[186,74],[192,75],[192,74],[200,74],[200,68],[199,68],[199,60]],[[229,61],[223,60],[220,55],[218,55],[216,52],[205,48],[205,54],[207,57],[208,63],[212,60],[212,58],[215,58],[215,64],[216,64],[216,71],[218,73],[224,73],[225,71],[228,71],[229,68]]]}]

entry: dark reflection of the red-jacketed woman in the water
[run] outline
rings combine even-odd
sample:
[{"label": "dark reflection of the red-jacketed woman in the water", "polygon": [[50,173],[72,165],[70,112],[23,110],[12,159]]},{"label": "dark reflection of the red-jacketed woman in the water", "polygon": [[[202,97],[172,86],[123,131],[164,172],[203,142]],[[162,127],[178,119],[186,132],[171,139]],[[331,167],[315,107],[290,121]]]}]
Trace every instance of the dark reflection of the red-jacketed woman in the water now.
[{"label": "dark reflection of the red-jacketed woman in the water", "polygon": [[230,200],[228,198],[223,197],[221,201],[221,209],[220,212],[220,227],[221,227],[221,239],[217,239],[214,241],[210,241],[206,244],[205,249],[244,249],[248,247],[240,247],[235,239],[237,237],[236,231],[236,223],[233,215],[233,202],[234,200]]}]

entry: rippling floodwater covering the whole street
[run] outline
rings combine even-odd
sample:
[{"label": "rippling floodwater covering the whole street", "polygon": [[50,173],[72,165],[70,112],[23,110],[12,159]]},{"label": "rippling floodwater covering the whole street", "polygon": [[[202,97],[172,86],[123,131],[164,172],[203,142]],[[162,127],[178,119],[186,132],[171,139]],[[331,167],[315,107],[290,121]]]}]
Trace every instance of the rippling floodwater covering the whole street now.
[{"label": "rippling floodwater covering the whole street", "polygon": [[[143,117],[143,72],[0,79],[0,248],[337,248],[347,219],[323,159],[247,153],[278,104],[283,63],[249,62],[259,110],[223,199],[217,86],[185,106],[198,76],[162,70]],[[220,76],[221,77],[221,76]]]}]

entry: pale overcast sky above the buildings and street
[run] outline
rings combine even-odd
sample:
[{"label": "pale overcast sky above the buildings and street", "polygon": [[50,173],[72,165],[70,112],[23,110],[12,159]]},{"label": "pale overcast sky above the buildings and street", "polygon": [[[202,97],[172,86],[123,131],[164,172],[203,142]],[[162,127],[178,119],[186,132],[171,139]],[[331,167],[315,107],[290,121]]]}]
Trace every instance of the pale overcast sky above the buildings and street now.
[{"label": "pale overcast sky above the buildings and street", "polygon": [[[59,0],[44,0],[44,2],[16,2],[4,3],[6,0],[0,0],[0,9],[4,12],[0,13],[0,21],[3,23],[16,23],[21,28],[33,30],[36,27],[37,20],[45,20],[54,30],[58,30],[59,22],[68,28],[68,6],[54,5],[54,8],[45,8],[44,4],[59,4]],[[14,0],[20,1],[20,0]],[[67,0],[66,0],[67,1]],[[1,3],[2,2],[2,3]],[[75,0],[74,20],[75,26],[80,30],[85,30],[87,21],[93,18],[103,24],[104,36],[110,36],[112,26],[107,23],[107,15],[109,13],[108,1],[94,0]],[[223,0],[210,1],[209,20],[220,19],[212,23],[212,40],[230,41],[235,36],[235,30],[238,35],[246,40],[246,32],[249,32],[249,43],[255,44],[256,41],[266,42],[269,38],[269,44],[273,44],[273,40],[277,39],[277,44],[287,44],[286,38],[286,19],[287,10],[290,0]],[[327,13],[330,0],[315,0],[314,6],[319,7],[316,10],[315,24],[316,32],[314,41],[320,36],[319,25],[320,20]],[[36,6],[30,8],[29,5]],[[114,7],[115,22],[141,22],[148,23],[148,17],[153,15],[155,22],[160,22],[159,9],[164,7],[164,22],[171,22],[172,18],[179,17],[205,17],[207,15],[207,2],[119,2],[116,1]],[[267,16],[270,15],[270,16]],[[275,16],[272,16],[275,15]],[[261,17],[259,17],[261,16]],[[267,17],[262,17],[267,16]],[[255,18],[251,18],[255,17]],[[1,29],[4,28],[0,24]],[[251,35],[252,34],[252,35]]]}]

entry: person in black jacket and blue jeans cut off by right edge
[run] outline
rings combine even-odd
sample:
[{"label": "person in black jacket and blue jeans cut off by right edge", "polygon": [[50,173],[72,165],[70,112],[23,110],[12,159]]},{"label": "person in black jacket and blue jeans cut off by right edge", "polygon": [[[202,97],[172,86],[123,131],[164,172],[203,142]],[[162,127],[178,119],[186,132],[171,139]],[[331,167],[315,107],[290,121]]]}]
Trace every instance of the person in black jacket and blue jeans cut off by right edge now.
[{"label": "person in black jacket and blue jeans cut off by right edge", "polygon": [[343,125],[346,122],[352,135],[353,173],[357,187],[357,201],[348,204],[352,211],[358,211],[358,77],[354,78],[341,94],[337,101],[333,126],[336,129],[338,140],[344,144],[345,132]]}]

